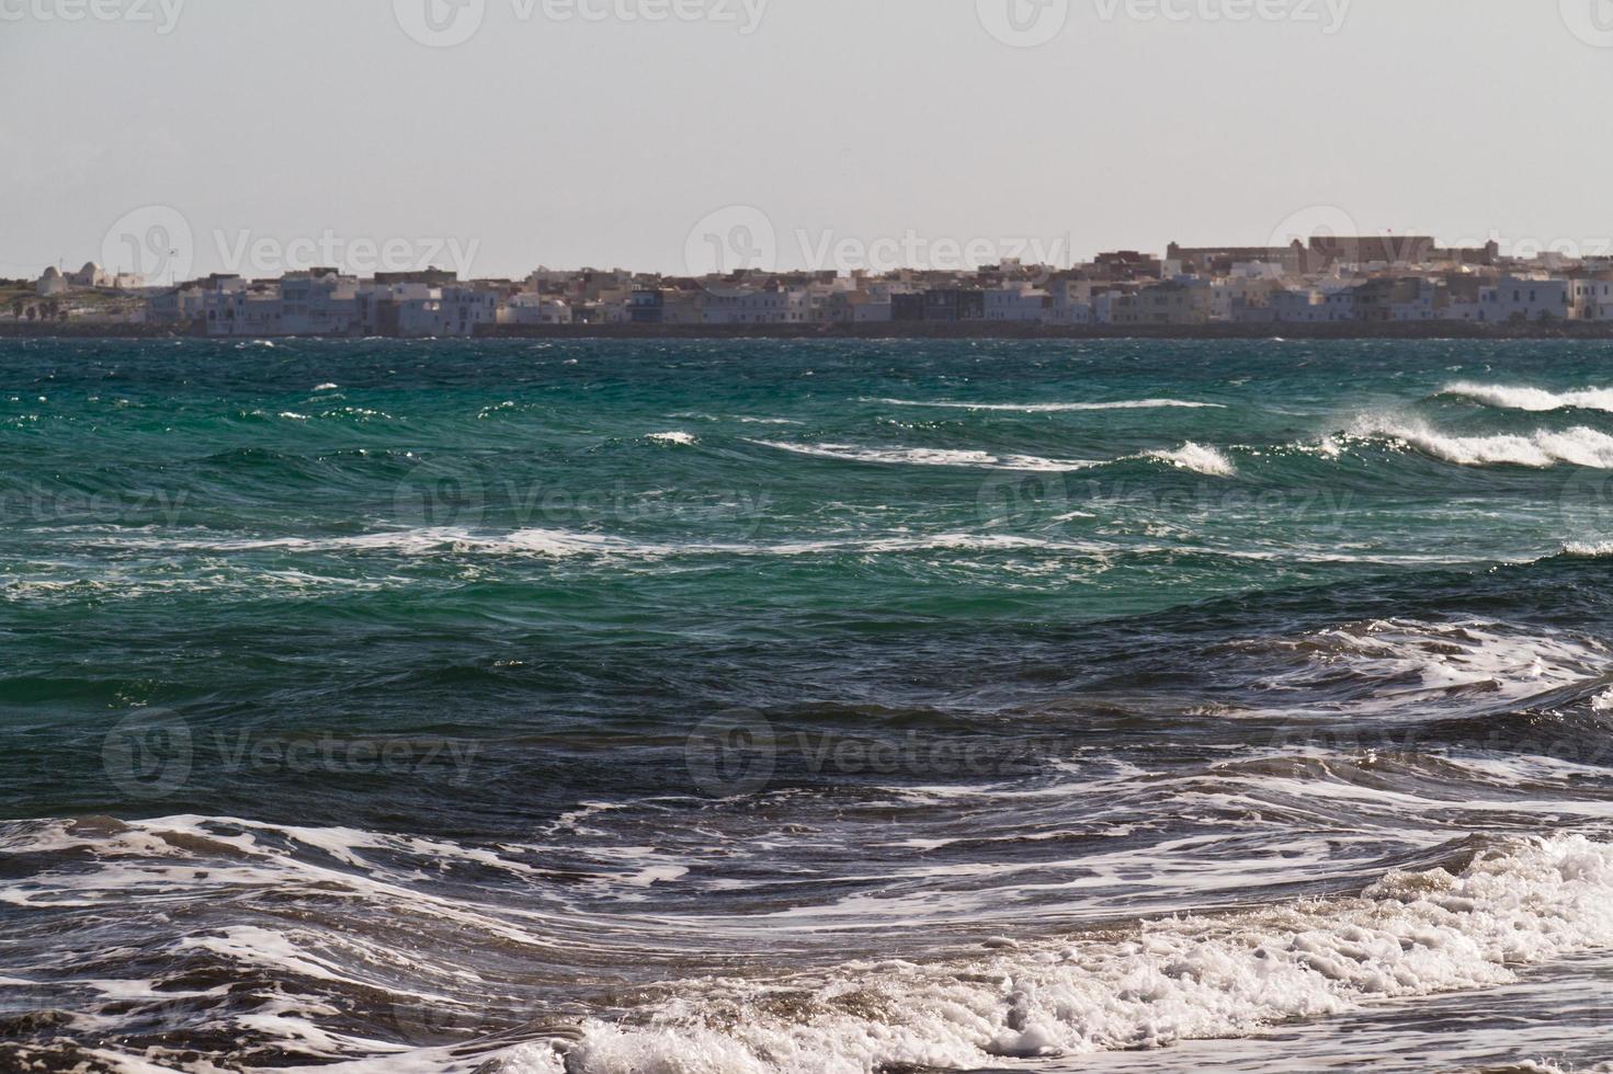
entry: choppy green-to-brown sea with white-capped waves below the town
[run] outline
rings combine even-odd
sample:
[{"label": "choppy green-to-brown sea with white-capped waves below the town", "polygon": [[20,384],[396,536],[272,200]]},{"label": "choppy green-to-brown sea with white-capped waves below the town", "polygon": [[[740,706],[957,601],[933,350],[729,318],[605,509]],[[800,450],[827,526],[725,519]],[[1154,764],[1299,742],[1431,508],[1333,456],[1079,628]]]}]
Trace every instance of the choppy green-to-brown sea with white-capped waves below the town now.
[{"label": "choppy green-to-brown sea with white-capped waves below the town", "polygon": [[3,340],[0,1069],[1613,1069],[1613,345]]}]

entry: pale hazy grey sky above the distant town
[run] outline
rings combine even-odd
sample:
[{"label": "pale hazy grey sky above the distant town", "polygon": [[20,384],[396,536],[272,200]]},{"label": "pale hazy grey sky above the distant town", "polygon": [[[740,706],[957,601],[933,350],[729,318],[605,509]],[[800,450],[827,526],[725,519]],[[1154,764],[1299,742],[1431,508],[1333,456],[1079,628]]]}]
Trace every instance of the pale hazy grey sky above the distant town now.
[{"label": "pale hazy grey sky above the distant town", "polygon": [[0,276],[1613,247],[1613,0],[0,0]]}]

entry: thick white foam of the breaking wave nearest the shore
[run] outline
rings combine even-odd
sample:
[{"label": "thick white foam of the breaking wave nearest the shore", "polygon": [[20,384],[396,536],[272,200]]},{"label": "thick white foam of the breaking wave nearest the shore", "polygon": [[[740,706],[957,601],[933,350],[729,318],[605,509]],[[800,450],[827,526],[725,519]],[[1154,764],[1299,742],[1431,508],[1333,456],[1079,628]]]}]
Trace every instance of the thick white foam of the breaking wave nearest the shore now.
[{"label": "thick white foam of the breaking wave nearest the shore", "polygon": [[687,982],[648,1024],[506,1053],[511,1074],[866,1074],[1242,1037],[1386,998],[1489,989],[1613,943],[1613,847],[1518,840],[1357,898],[1187,916],[966,963]]}]

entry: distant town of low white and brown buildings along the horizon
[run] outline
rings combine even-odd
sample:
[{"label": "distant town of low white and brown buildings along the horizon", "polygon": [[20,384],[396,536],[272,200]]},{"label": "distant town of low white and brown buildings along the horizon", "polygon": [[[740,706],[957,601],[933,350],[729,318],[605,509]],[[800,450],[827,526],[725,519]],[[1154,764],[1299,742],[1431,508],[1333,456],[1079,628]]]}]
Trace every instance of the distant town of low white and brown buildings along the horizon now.
[{"label": "distant town of low white and brown buildings along the horizon", "polygon": [[568,326],[1613,326],[1613,258],[1513,258],[1495,242],[1444,248],[1421,235],[1327,235],[1286,247],[1116,250],[1069,268],[1005,260],[973,271],[700,277],[540,268],[521,281],[461,281],[442,269],[360,279],[310,268],[279,279],[213,274],[166,287],[90,263],[0,281],[0,326],[16,331],[139,327],[258,339],[519,335]]}]

